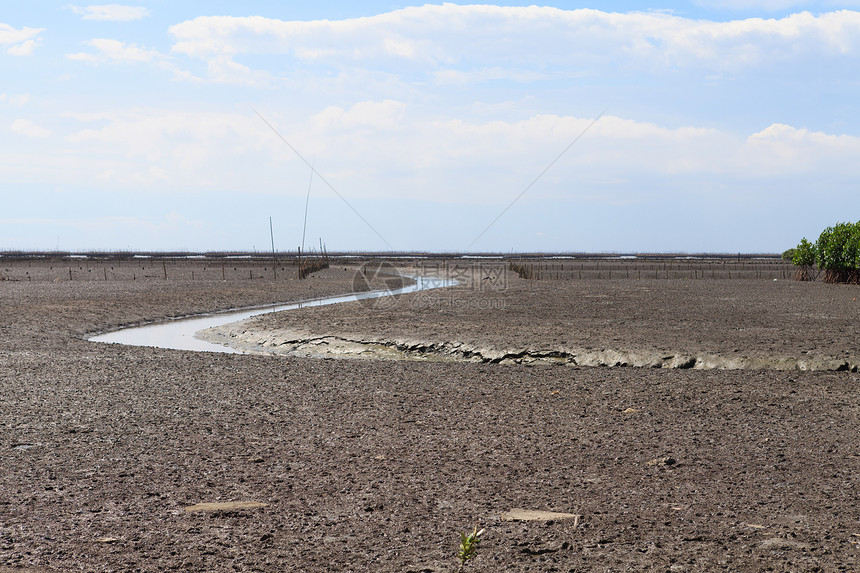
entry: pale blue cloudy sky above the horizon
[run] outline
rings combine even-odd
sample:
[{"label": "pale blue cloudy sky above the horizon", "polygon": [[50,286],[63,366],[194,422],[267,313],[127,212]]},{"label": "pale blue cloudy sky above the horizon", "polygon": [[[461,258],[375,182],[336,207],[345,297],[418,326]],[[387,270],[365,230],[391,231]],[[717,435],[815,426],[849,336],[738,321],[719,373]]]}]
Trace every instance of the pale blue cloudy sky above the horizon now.
[{"label": "pale blue cloudy sky above the horizon", "polygon": [[0,251],[775,253],[858,183],[860,0],[0,5]]}]

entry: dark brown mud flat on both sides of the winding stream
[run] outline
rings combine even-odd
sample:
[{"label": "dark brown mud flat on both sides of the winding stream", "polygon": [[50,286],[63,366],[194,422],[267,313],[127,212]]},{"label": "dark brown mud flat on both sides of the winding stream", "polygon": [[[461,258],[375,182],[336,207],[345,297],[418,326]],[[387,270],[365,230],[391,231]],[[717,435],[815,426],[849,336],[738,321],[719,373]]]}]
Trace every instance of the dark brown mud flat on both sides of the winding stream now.
[{"label": "dark brown mud flat on both sides of the winding stream", "polygon": [[[83,339],[351,284],[342,270],[302,283],[0,283],[0,571],[455,571],[457,532],[476,522],[486,533],[472,571],[857,570],[850,371],[325,360]],[[850,364],[860,289],[509,277],[502,292],[431,292],[440,298],[304,309],[269,326],[486,348],[806,350]],[[504,304],[476,302],[493,297]],[[579,518],[501,519],[515,508]]]}]

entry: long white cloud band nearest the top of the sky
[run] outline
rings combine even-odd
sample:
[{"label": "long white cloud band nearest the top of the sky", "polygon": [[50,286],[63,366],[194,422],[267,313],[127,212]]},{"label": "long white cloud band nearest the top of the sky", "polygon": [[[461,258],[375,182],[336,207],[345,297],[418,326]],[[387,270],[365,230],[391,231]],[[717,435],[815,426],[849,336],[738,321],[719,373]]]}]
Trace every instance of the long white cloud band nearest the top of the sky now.
[{"label": "long white cloud band nearest the top of the sky", "polygon": [[607,66],[713,73],[860,55],[860,13],[850,11],[712,22],[655,12],[428,4],[340,21],[199,17],[170,33],[174,53],[219,62],[226,73],[210,78],[217,81],[229,81],[225,63],[244,54],[286,56],[288,68],[400,70],[408,62],[408,73],[448,82],[511,73],[499,70],[527,70],[526,78],[603,74]]}]

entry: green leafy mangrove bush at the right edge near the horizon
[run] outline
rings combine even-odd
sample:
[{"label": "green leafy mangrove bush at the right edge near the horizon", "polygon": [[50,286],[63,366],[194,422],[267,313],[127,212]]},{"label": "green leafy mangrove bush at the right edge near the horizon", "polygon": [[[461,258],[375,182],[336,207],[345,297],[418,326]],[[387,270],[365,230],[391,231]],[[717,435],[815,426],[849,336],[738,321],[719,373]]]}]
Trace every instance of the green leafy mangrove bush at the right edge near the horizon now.
[{"label": "green leafy mangrove bush at the right edge near the horizon", "polygon": [[800,280],[814,280],[817,265],[825,282],[860,283],[860,222],[827,227],[815,243],[804,238],[793,251]]}]

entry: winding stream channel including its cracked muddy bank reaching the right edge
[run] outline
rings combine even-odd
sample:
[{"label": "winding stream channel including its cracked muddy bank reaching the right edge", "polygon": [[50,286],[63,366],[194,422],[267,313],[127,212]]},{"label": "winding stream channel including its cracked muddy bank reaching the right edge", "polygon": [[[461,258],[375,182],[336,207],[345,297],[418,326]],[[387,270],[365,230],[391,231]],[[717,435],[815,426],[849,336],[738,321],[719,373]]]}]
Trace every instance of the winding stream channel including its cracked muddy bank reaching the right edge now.
[{"label": "winding stream channel including its cracked muddy bank reaching the right edge", "polygon": [[[386,358],[446,360],[465,362],[485,362],[500,364],[544,363],[570,364],[575,366],[631,366],[648,368],[694,368],[694,369],[753,369],[753,370],[829,370],[860,371],[860,363],[849,362],[844,358],[790,356],[725,357],[715,354],[687,354],[674,351],[637,352],[614,349],[567,348],[551,350],[498,350],[478,348],[458,342],[426,343],[397,342],[385,340],[352,340],[335,335],[315,336],[310,339],[292,339],[293,333],[281,332],[283,341],[275,348],[269,344],[271,333],[263,339],[242,339],[227,334],[222,336],[226,342],[210,342],[197,338],[197,334],[209,328],[229,325],[246,318],[304,307],[325,306],[341,302],[354,302],[365,299],[396,296],[429,289],[454,286],[456,280],[434,277],[404,275],[415,283],[395,290],[376,290],[361,293],[330,296],[319,299],[260,306],[254,308],[228,310],[218,313],[190,317],[166,319],[164,322],[135,326],[90,337],[92,342],[126,344],[130,346],[149,346],[174,350],[193,350],[197,352],[221,352],[227,354],[258,354],[261,350],[271,354],[293,356],[334,356],[350,358]],[[218,340],[216,335],[213,337]],[[259,338],[259,337],[257,337]],[[320,344],[320,343],[324,344]],[[322,348],[322,350],[321,350]]]}]

